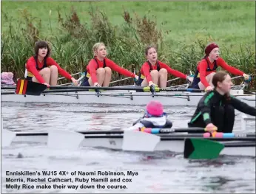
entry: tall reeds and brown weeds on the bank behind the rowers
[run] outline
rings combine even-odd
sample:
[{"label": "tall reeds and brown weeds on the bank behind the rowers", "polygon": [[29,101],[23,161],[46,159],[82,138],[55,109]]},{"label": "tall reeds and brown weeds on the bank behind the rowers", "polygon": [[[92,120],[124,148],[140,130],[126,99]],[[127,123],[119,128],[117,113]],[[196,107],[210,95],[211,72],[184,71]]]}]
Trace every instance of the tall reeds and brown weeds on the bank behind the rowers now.
[{"label": "tall reeds and brown weeds on the bank behind the rowers", "polygon": [[[171,43],[164,41],[164,34],[169,31],[158,30],[156,18],[144,15],[139,17],[124,10],[124,24],[113,26],[107,15],[91,7],[90,24],[83,23],[78,13],[72,8],[70,15],[64,18],[58,11],[58,23],[61,35],[47,35],[43,37],[41,21],[34,18],[27,10],[21,11],[18,26],[14,26],[12,18],[4,14],[4,21],[9,24],[7,32],[1,34],[1,72],[13,72],[16,77],[24,77],[24,63],[33,55],[33,46],[39,39],[50,42],[52,57],[60,66],[74,74],[84,72],[92,55],[92,46],[102,41],[107,46],[108,58],[119,66],[131,72],[139,72],[145,61],[144,48],[155,44],[158,47],[158,59],[169,64],[185,74],[189,70],[195,71],[198,60],[203,57],[204,47],[209,41],[198,38],[190,45],[180,43],[178,51],[172,51]],[[49,20],[51,27],[51,21]],[[238,69],[252,73],[255,76],[255,48],[240,44],[239,52],[229,52],[229,48],[221,46],[222,58]],[[112,80],[122,76],[114,72]],[[169,79],[173,78],[169,76]],[[255,79],[254,79],[255,80]],[[62,83],[67,80],[61,80]],[[122,84],[132,84],[132,80],[125,80]],[[172,84],[181,84],[184,80],[177,80]],[[120,84],[120,83],[119,83]],[[252,84],[254,86],[254,84]]]}]

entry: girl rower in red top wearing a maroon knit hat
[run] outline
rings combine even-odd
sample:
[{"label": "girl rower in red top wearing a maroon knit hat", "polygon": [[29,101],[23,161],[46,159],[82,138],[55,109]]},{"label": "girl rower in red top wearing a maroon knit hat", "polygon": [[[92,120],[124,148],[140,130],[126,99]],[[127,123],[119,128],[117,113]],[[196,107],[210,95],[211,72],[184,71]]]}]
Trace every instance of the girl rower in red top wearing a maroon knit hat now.
[{"label": "girl rower in red top wearing a maroon knit hat", "polygon": [[229,66],[223,58],[220,58],[219,46],[215,43],[211,43],[205,48],[205,56],[198,63],[195,78],[190,88],[192,89],[206,89],[206,91],[211,91],[213,89],[212,77],[216,73],[218,66],[226,69],[228,72],[234,75],[241,75],[245,80],[249,80],[249,75],[241,72],[235,67]]}]

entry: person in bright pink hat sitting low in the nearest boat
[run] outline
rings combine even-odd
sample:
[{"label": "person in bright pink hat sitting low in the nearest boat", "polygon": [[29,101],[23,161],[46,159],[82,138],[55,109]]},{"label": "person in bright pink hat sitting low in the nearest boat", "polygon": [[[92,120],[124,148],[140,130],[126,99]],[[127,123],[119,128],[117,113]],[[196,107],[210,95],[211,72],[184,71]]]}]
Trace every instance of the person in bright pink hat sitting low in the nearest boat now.
[{"label": "person in bright pink hat sitting low in the nearest boat", "polygon": [[146,105],[144,117],[138,119],[129,130],[143,128],[172,128],[172,122],[167,119],[162,103],[152,100]]}]

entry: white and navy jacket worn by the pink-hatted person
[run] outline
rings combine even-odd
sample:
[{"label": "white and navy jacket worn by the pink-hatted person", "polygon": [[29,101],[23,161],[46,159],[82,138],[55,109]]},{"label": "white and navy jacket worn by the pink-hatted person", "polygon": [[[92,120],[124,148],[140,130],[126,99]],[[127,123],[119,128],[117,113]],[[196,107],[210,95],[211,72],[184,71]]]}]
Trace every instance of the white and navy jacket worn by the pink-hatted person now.
[{"label": "white and navy jacket worn by the pink-hatted person", "polygon": [[166,113],[164,113],[163,117],[143,117],[134,122],[133,125],[139,122],[145,128],[172,128],[172,122],[167,119]]}]

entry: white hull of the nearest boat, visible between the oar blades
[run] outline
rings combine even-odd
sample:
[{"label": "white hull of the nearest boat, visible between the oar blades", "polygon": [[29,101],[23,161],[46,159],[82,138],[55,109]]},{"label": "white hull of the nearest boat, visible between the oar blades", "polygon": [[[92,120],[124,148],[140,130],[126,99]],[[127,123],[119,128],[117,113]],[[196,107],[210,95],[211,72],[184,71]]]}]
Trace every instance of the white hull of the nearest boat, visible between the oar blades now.
[{"label": "white hull of the nearest boat, visible between the oar blades", "polygon": [[[44,143],[47,144],[47,136],[16,136],[13,139],[13,143]],[[91,147],[91,148],[108,148],[113,150],[122,150],[123,139],[122,138],[84,138],[81,143],[81,147]],[[183,140],[166,140],[161,141],[156,145],[155,151],[170,151],[174,153],[183,153],[184,141]],[[209,150],[210,151],[210,150]],[[253,156],[255,157],[255,146],[254,147],[234,147],[234,148],[224,148],[220,155],[229,156]]]}]

